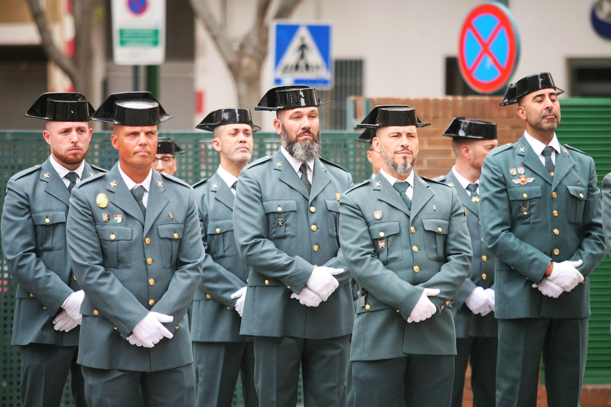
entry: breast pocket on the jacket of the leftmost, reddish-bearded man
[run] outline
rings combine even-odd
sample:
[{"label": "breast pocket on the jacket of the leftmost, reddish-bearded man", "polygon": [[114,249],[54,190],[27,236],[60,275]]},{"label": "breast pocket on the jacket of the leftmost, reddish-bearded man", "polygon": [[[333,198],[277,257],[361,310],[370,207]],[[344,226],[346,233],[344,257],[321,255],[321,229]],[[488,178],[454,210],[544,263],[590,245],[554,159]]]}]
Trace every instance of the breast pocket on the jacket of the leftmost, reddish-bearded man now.
[{"label": "breast pocket on the jacket of the leftmost, reddish-bearded man", "polygon": [[66,212],[62,209],[31,213],[36,230],[36,251],[62,250],[66,242]]}]

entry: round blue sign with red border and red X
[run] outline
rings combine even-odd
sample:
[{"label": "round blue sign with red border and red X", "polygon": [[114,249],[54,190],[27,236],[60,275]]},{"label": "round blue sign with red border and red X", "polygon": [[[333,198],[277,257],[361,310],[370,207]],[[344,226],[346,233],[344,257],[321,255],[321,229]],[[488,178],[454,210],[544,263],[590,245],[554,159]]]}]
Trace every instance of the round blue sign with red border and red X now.
[{"label": "round blue sign with red border and red X", "polygon": [[458,41],[458,67],[478,93],[494,93],[507,85],[518,65],[518,28],[507,7],[480,4],[464,20]]}]

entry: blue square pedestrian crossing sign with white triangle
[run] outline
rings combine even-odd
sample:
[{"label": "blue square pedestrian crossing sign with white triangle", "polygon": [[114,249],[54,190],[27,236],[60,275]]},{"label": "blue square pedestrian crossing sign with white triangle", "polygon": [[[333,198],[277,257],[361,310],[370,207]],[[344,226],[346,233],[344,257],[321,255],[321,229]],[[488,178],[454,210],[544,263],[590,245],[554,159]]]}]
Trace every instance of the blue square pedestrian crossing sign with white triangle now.
[{"label": "blue square pedestrian crossing sign with white triangle", "polygon": [[274,84],[333,86],[331,25],[274,24]]}]

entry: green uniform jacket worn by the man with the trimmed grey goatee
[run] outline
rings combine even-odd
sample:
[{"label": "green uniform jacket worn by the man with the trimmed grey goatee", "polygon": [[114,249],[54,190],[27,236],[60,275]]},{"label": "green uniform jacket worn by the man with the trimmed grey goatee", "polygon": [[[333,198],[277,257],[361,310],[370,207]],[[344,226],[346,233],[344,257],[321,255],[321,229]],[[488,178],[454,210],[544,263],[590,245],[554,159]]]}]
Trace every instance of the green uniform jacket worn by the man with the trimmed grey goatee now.
[{"label": "green uniform jacket worn by the man with the trimmed grey goatee", "polygon": [[[342,195],[340,243],[350,272],[367,290],[357,309],[353,361],[456,355],[452,303],[469,274],[471,243],[456,191],[414,177],[411,214],[378,173]],[[407,323],[424,288],[441,293],[430,319]]]}]

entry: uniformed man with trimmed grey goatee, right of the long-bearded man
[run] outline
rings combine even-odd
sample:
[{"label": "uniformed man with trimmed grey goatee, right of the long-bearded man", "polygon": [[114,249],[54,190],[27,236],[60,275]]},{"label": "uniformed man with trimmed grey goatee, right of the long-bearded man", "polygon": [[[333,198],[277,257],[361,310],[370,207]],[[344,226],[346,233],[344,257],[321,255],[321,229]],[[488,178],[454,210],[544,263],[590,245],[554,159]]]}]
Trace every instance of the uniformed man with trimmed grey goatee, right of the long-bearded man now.
[{"label": "uniformed man with trimmed grey goatee, right of the long-bearded man", "polygon": [[378,106],[378,175],[342,195],[340,244],[360,286],[351,344],[354,400],[363,406],[450,406],[456,339],[451,300],[471,264],[456,190],[415,175],[408,106]]}]

